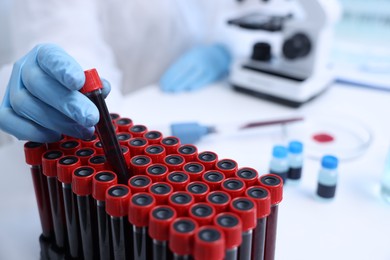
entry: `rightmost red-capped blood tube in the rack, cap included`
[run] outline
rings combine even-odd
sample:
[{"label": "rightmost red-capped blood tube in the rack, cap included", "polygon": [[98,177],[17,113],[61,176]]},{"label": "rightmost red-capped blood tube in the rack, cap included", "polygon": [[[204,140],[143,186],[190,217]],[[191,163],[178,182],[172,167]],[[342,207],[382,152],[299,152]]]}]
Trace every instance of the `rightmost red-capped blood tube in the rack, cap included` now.
[{"label": "rightmost red-capped blood tube in the rack, cap included", "polygon": [[260,186],[271,194],[271,213],[267,217],[265,231],[265,260],[275,259],[276,228],[278,223],[278,205],[283,199],[283,179],[275,174],[260,177]]}]

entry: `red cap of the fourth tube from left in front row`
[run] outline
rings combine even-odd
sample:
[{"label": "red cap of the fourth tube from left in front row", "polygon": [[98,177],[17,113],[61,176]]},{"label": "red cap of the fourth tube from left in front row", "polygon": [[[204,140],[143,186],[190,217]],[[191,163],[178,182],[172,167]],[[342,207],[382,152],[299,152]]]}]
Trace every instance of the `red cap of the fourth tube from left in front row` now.
[{"label": "red cap of the fourth tube from left in front row", "polygon": [[72,177],[73,192],[79,196],[92,194],[92,180],[95,174],[95,169],[89,166],[74,169]]}]

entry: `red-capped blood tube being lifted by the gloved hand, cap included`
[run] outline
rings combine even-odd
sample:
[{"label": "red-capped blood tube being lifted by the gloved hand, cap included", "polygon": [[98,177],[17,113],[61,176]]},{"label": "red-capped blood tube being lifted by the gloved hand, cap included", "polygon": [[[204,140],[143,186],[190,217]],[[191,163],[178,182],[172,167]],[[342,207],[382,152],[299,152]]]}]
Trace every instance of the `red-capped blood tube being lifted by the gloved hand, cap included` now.
[{"label": "red-capped blood tube being lifted by the gloved hand, cap included", "polygon": [[118,139],[116,139],[115,129],[101,92],[102,87],[102,82],[95,69],[85,71],[85,84],[80,91],[97,106],[100,118],[96,125],[96,132],[99,135],[100,141],[103,143],[104,154],[117,174],[118,182],[127,183],[130,179],[130,174],[123,158]]}]

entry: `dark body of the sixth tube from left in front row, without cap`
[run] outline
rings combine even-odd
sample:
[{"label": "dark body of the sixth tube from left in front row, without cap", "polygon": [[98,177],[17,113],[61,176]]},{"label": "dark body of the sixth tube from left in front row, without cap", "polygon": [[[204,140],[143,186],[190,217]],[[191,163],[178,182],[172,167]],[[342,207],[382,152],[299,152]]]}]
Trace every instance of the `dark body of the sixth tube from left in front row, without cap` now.
[{"label": "dark body of the sixth tube from left in front row, without cap", "polygon": [[133,244],[131,239],[132,225],[129,223],[126,216],[110,216],[110,222],[114,259],[133,259]]}]

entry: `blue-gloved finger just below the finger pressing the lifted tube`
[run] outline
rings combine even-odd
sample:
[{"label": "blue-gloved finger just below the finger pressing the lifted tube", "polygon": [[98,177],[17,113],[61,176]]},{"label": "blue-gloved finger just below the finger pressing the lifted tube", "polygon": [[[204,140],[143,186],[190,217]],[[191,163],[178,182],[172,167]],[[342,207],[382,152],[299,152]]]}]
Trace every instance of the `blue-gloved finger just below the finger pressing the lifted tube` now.
[{"label": "blue-gloved finger just below the finger pressing the lifted tube", "polygon": [[32,96],[27,89],[21,89],[11,97],[10,107],[16,115],[44,128],[77,138],[88,138],[94,132],[94,127],[80,125],[60,111]]}]

